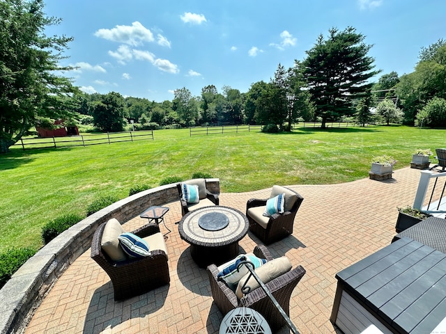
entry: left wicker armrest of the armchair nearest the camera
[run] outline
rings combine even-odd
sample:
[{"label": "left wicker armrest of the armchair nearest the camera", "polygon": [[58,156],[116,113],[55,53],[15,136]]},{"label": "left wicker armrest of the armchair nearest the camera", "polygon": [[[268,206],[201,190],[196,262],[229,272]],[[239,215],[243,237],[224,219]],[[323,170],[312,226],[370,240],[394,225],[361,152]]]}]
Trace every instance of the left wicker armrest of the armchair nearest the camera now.
[{"label": "left wicker armrest of the armchair nearest the camera", "polygon": [[207,268],[210,289],[213,299],[217,304],[217,307],[226,314],[229,310],[238,306],[238,299],[236,294],[224,283],[222,280],[218,280],[218,269],[215,264],[210,264]]}]

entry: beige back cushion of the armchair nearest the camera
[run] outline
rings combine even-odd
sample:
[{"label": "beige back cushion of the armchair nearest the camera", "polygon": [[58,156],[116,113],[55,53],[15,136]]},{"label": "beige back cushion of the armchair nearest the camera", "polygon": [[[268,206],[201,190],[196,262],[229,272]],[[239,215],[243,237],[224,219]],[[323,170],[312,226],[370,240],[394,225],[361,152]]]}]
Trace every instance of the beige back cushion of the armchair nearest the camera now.
[{"label": "beige back cushion of the armchair nearest the camera", "polygon": [[[270,282],[270,280],[274,280],[275,278],[283,275],[284,273],[291,270],[291,262],[286,256],[277,257],[277,259],[271,260],[263,264],[262,267],[256,268],[254,271],[259,276],[260,280],[266,284]],[[245,284],[245,281],[249,277],[249,273],[247,273],[240,281],[238,281],[236,296],[238,299],[243,298],[242,287]],[[249,291],[253,291],[260,287],[259,283],[255,280],[255,278],[249,278],[247,282],[247,287],[251,289]]]}]

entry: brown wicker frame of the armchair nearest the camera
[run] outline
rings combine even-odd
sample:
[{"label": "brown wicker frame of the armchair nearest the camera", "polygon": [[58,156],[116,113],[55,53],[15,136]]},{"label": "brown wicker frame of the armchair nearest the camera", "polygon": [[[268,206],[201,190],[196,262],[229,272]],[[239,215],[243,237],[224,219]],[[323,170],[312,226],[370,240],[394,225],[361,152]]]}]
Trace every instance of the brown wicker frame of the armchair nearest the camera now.
[{"label": "brown wicker frame of the armchair nearest the camera", "polygon": [[[268,261],[272,260],[272,256],[266,246],[256,246],[253,253],[256,255],[256,257],[261,257]],[[246,294],[244,297],[245,301],[242,304],[233,290],[229,288],[226,283],[217,278],[219,271],[215,264],[210,264],[207,272],[214,302],[223,315],[226,315],[226,313],[234,308],[244,305],[263,315],[266,321],[268,321],[268,324],[273,332],[277,331],[277,329],[286,324],[284,317],[282,317],[279,310],[275,308],[274,304],[261,287]],[[288,316],[290,313],[291,293],[304,275],[305,269],[303,269],[302,266],[298,266],[295,267],[295,269],[291,269],[291,271],[282,274],[282,276],[274,278],[270,282],[266,283],[266,287],[270,290],[272,296],[274,296]]]}]

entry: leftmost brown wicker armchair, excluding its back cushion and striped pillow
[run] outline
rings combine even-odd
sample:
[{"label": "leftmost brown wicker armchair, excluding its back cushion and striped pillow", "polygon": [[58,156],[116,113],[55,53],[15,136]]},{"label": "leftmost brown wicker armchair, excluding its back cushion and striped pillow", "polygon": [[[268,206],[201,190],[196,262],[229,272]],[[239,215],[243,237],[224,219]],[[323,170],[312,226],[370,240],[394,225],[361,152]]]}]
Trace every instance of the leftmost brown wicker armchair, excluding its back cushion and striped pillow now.
[{"label": "leftmost brown wicker armchair, excluding its back cushion and striped pillow", "polygon": [[[165,244],[164,250],[152,249],[151,244],[155,244],[155,242],[149,242],[150,256],[142,258],[127,257],[126,260],[116,262],[107,255],[101,246],[102,234],[104,234],[106,224],[102,223],[93,234],[91,258],[98,262],[112,280],[115,301],[139,296],[170,282]],[[146,240],[164,243],[160,228],[155,223],[144,225],[138,230],[132,231],[132,233]],[[160,237],[162,241],[159,239]]]}]

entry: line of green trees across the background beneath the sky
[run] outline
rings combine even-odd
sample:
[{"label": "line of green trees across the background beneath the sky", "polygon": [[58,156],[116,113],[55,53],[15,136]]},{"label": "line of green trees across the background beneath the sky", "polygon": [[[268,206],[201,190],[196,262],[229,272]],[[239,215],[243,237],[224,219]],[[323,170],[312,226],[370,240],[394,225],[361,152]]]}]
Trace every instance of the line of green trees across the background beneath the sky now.
[{"label": "line of green trees across the background beneath the sky", "polygon": [[214,85],[193,96],[186,87],[172,101],[123,97],[117,92],[86,94],[63,77],[59,61],[72,38],[47,37],[43,28],[59,24],[46,17],[43,0],[0,2],[0,152],[29,134],[35,125],[82,122],[118,132],[130,120],[137,129],[196,125],[261,124],[268,131],[291,131],[298,120],[326,122],[353,118],[365,125],[377,118],[406,125],[446,126],[446,42],[420,51],[415,71],[380,73],[372,45],[355,28],[332,28],[319,35],[302,60],[279,63],[268,82],[244,93]]}]

